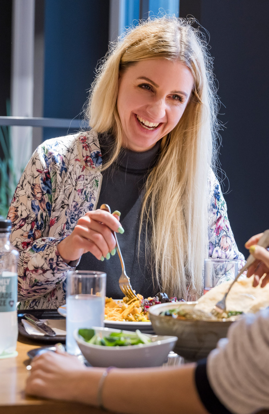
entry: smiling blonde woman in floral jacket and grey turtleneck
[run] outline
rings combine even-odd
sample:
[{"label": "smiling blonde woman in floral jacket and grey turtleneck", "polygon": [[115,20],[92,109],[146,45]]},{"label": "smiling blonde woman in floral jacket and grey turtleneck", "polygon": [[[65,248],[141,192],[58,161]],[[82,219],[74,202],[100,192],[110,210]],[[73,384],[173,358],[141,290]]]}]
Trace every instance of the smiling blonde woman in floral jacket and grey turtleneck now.
[{"label": "smiling blonde woman in floral jacket and grey turtleneck", "polygon": [[106,271],[107,296],[122,297],[111,229],[146,297],[198,298],[207,257],[241,266],[213,172],[216,111],[211,59],[188,22],[163,17],[127,31],[92,85],[92,129],[44,142],[18,184],[8,217],[21,306],[62,305],[71,266]]}]

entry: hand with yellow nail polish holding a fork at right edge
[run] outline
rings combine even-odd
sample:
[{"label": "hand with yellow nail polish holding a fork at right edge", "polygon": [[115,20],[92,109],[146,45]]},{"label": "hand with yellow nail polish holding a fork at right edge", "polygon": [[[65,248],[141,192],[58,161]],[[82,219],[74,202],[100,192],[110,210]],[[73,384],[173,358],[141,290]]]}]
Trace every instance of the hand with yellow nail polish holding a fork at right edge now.
[{"label": "hand with yellow nail polish holding a fork at right edge", "polygon": [[255,274],[253,286],[256,287],[259,284],[261,277],[265,274],[261,287],[264,287],[269,282],[269,251],[264,247],[257,246],[259,238],[262,236],[262,233],[252,236],[247,243],[245,243],[245,248],[250,250],[252,256],[255,257],[255,262],[248,268],[247,277]]}]

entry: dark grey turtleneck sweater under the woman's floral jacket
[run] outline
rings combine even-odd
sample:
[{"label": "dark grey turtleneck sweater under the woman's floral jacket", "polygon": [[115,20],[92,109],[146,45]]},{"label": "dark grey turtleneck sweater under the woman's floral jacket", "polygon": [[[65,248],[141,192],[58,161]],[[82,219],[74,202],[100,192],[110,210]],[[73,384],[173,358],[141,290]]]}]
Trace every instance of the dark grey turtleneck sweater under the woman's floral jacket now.
[{"label": "dark grey turtleneck sweater under the woman's floral jacket", "polygon": [[[103,164],[108,161],[111,138],[99,137]],[[103,171],[103,183],[97,209],[103,203],[110,206],[111,212],[121,212],[120,224],[125,232],[117,233],[120,250],[125,262],[125,270],[130,277],[132,288],[144,297],[156,293],[153,289],[151,269],[145,259],[145,238],[140,239],[138,259],[138,231],[143,199],[143,186],[149,171],[154,166],[160,149],[160,141],[146,152],[122,149],[118,159]],[[79,270],[99,270],[106,272],[106,295],[114,299],[122,298],[118,280],[121,266],[118,254],[101,262],[91,253],[85,253],[77,266]]]}]

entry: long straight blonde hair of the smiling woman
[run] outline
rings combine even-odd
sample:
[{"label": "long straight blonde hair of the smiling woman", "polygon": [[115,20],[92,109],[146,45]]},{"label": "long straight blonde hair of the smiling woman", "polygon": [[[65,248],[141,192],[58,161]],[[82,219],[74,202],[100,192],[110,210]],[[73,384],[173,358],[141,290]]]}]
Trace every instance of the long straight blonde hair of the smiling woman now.
[{"label": "long straight blonde hair of the smiling woman", "polygon": [[108,168],[123,142],[117,110],[119,71],[156,58],[187,65],[194,87],[178,125],[162,138],[161,154],[147,178],[139,235],[145,232],[149,241],[145,254],[150,256],[154,285],[168,295],[196,299],[208,257],[208,174],[215,156],[217,100],[211,59],[190,22],[162,17],[129,29],[98,71],[87,116],[96,132],[110,131],[115,137],[103,167]]}]

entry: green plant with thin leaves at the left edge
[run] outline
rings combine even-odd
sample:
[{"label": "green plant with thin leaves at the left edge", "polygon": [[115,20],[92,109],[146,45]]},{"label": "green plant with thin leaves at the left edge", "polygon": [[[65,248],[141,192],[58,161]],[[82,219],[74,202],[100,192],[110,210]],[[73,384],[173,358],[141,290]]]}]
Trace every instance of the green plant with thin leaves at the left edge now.
[{"label": "green plant with thin leaves at the left edge", "polygon": [[[10,116],[10,101],[7,101],[7,116]],[[4,218],[16,188],[10,132],[10,126],[0,126],[0,215]]]}]

